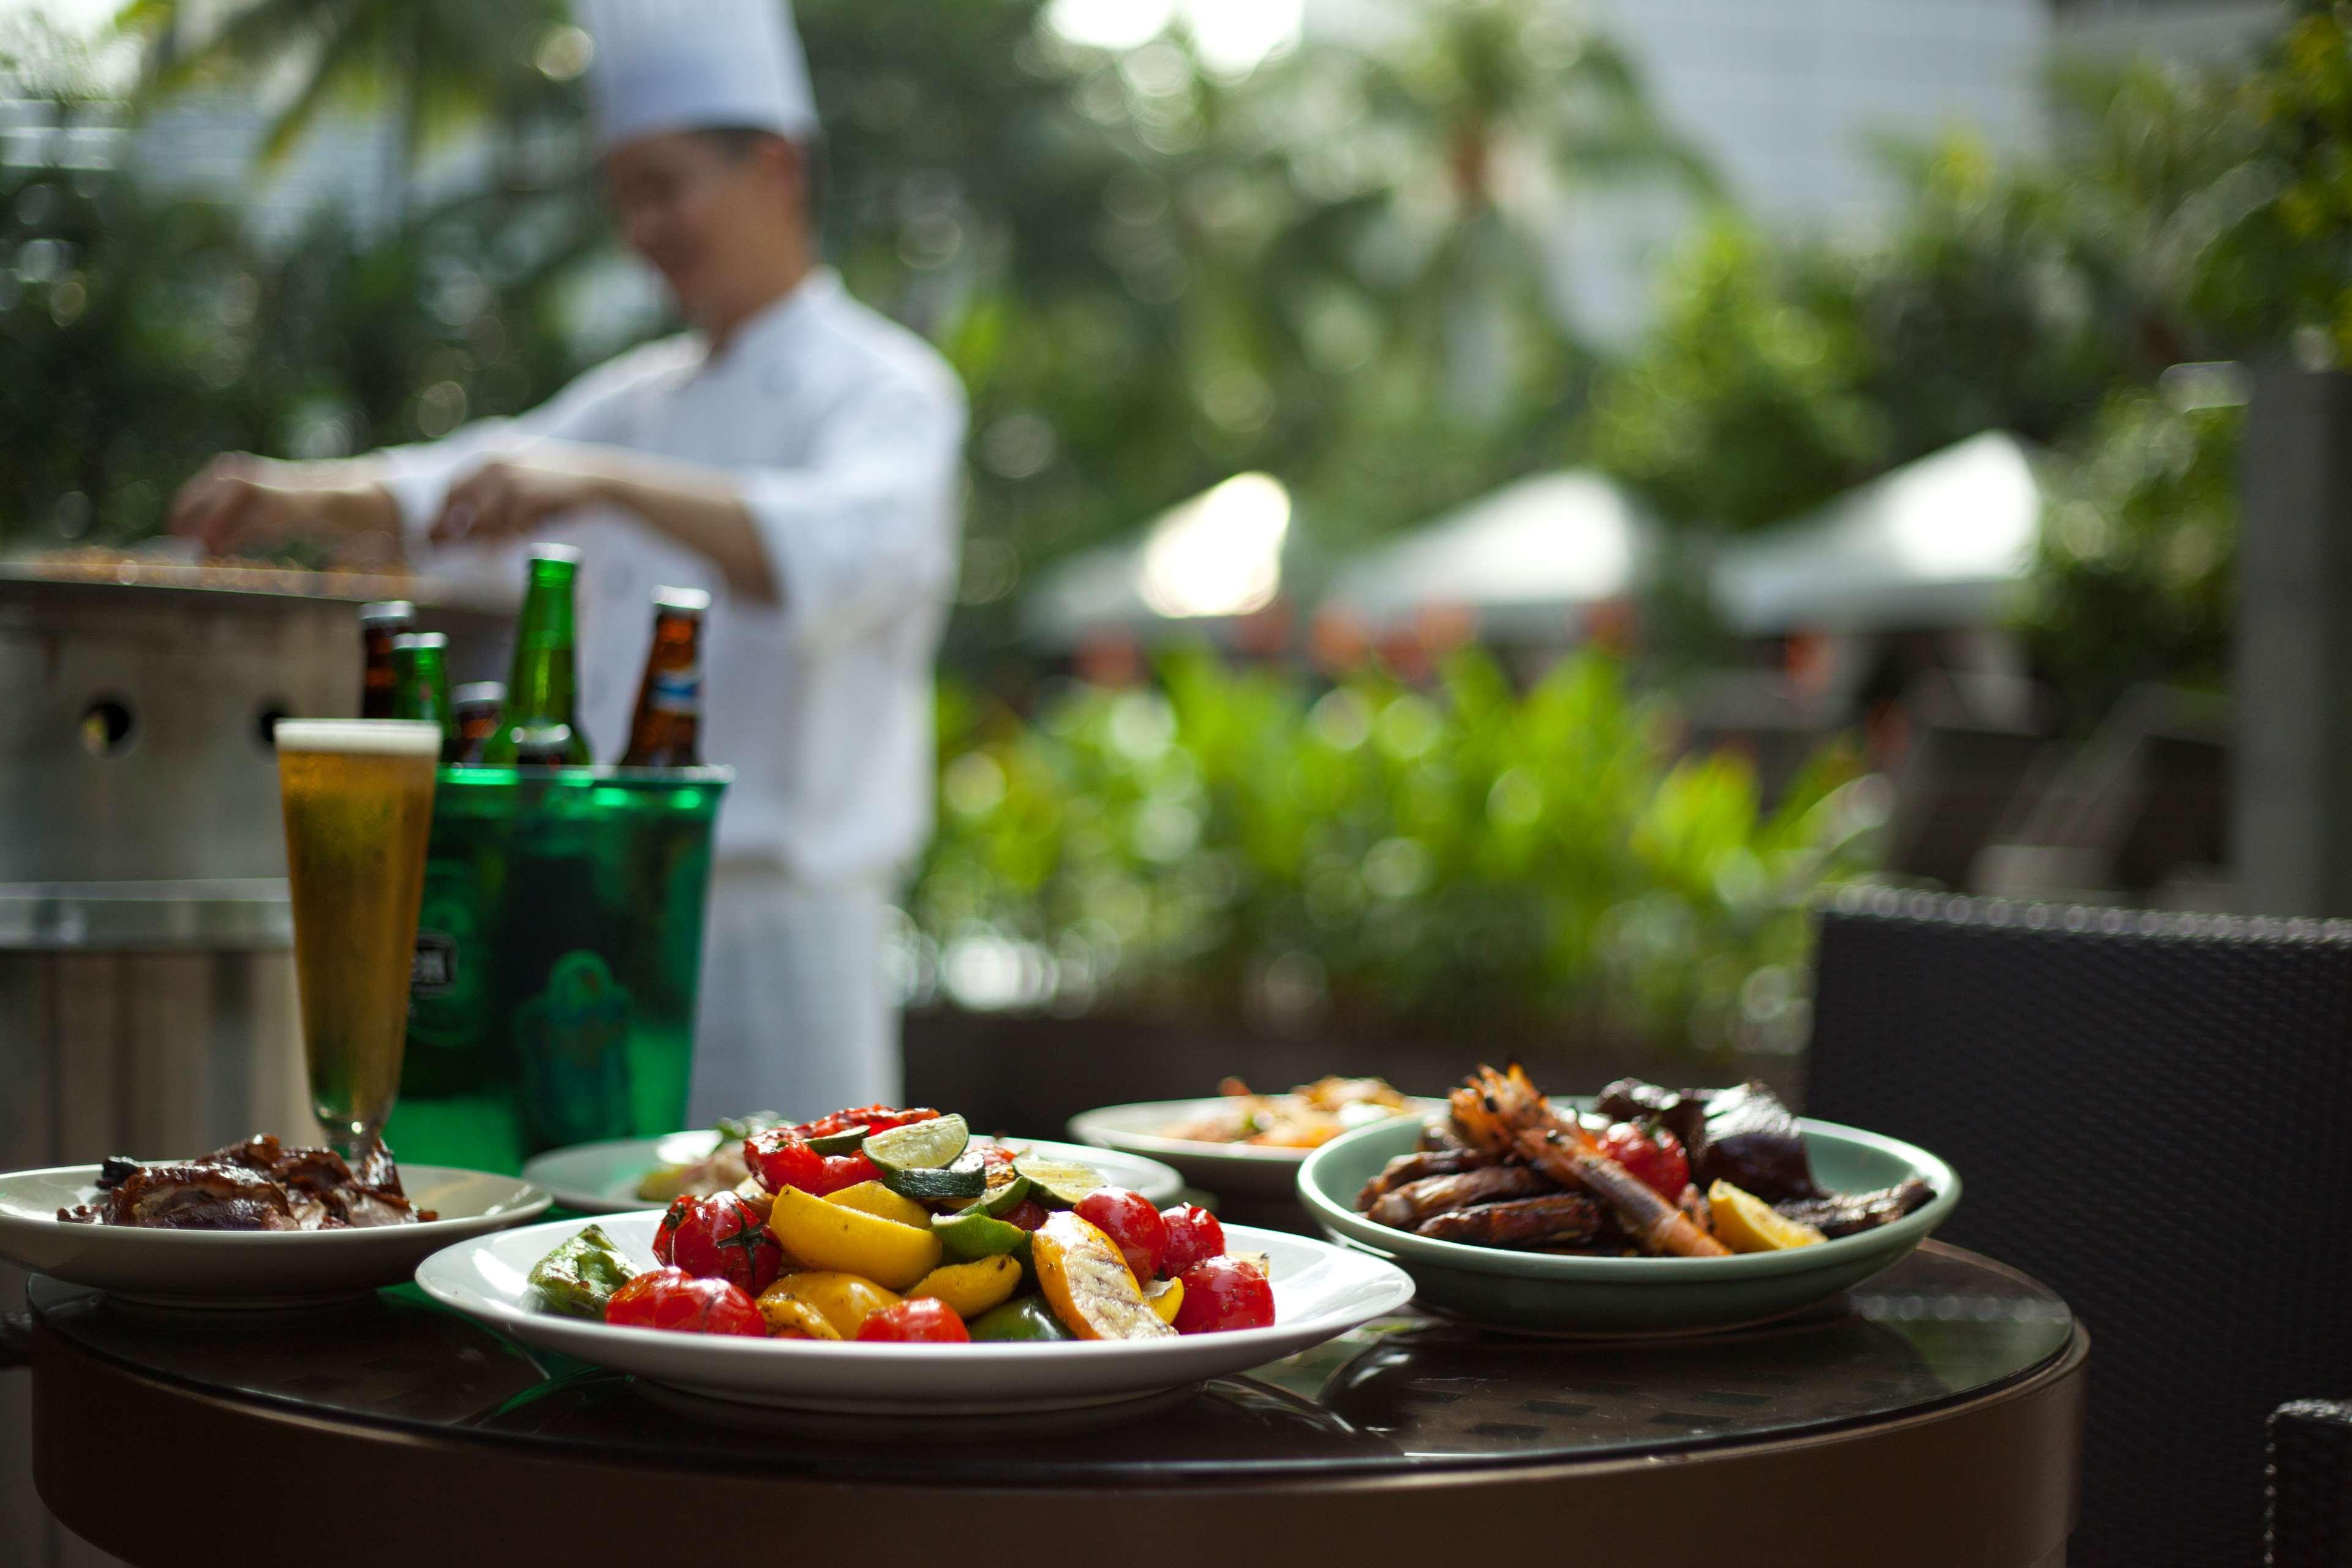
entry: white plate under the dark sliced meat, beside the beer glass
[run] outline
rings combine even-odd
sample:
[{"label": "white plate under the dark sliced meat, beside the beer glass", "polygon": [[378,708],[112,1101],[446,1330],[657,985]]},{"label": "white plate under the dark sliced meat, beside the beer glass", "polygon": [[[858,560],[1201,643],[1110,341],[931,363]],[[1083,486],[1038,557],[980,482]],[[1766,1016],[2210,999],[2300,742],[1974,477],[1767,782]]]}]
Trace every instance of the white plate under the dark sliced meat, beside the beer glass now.
[{"label": "white plate under the dark sliced meat, beside the beer glass", "polygon": [[430,1253],[548,1206],[513,1175],[400,1166],[400,1187],[442,1218],[360,1229],[146,1229],[68,1225],[61,1206],[99,1197],[96,1166],[0,1175],[0,1258],[35,1274],[160,1307],[301,1307],[407,1284]]}]

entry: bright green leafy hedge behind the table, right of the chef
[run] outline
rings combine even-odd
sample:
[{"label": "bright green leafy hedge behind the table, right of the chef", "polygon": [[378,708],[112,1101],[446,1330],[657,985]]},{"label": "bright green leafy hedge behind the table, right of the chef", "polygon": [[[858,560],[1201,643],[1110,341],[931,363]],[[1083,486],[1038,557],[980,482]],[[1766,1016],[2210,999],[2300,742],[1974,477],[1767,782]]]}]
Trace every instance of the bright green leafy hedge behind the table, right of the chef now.
[{"label": "bright green leafy hedge behind the table, right of the chef", "polygon": [[1670,715],[1602,656],[1524,696],[1477,654],[1432,693],[1359,675],[1319,696],[1183,656],[1035,724],[971,693],[941,715],[913,910],[950,992],[1011,943],[1056,976],[1028,1001],[1795,1044],[1804,905],[1867,865],[1846,757],[1766,811],[1738,757],[1677,759]]}]

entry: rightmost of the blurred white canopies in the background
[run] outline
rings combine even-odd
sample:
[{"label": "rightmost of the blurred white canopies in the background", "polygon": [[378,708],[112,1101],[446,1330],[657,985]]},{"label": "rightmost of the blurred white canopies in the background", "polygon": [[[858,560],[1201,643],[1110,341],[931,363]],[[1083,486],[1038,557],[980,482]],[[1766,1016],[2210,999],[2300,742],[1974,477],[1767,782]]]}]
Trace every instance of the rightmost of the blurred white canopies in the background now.
[{"label": "rightmost of the blurred white canopies in the background", "polygon": [[2032,567],[2039,524],[2025,447],[1985,430],[1724,545],[1715,602],[1750,637],[1990,625]]}]

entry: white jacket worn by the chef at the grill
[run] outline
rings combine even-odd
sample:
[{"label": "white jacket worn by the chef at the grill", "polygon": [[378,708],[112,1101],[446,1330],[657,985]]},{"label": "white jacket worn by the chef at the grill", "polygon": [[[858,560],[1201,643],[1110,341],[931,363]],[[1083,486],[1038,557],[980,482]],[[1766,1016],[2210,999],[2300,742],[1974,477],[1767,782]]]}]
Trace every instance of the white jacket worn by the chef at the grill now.
[{"label": "white jacket worn by the chef at the grill", "polygon": [[[741,324],[630,350],[520,418],[381,454],[412,559],[522,592],[522,545],[430,548],[456,480],[539,440],[597,442],[724,468],[781,604],[729,592],[706,557],[626,512],[555,520],[579,545],[579,717],[619,757],[659,585],[706,588],[706,762],[736,769],[717,858],[802,886],[870,884],[931,827],[931,661],[955,585],[964,393],[924,343],[849,296],[830,268]],[[753,1107],[739,1107],[753,1110]]]}]

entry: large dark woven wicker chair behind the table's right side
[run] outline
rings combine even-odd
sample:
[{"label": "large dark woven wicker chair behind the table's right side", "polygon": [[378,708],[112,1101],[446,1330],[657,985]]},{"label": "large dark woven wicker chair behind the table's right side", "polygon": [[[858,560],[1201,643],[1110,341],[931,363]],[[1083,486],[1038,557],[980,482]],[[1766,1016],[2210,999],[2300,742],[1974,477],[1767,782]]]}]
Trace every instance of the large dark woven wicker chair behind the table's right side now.
[{"label": "large dark woven wicker chair behind the table's right side", "polygon": [[1943,1237],[2089,1326],[2070,1563],[2256,1561],[2265,1420],[2352,1389],[2352,926],[1846,893],[1806,1112],[1950,1159]]}]

